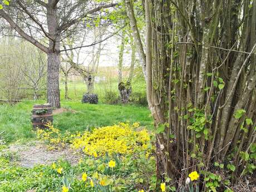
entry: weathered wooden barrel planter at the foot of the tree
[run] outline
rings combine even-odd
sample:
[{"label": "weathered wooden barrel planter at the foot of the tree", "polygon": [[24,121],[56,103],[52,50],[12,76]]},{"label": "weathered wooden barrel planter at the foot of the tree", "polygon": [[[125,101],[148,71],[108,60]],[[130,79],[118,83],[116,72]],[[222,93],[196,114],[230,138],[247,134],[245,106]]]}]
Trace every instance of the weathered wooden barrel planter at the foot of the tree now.
[{"label": "weathered wooden barrel planter at the foot of the tree", "polygon": [[47,129],[47,122],[53,122],[51,104],[34,105],[32,110],[33,129]]}]

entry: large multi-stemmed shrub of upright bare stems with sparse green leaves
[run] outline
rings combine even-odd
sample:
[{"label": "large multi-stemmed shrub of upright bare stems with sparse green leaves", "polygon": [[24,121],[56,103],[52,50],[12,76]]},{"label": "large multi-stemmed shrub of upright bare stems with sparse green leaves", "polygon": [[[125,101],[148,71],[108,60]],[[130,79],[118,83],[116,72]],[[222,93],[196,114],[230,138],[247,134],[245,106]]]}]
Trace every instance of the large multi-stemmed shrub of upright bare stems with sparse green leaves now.
[{"label": "large multi-stemmed shrub of upright bare stems with sparse green leaves", "polygon": [[145,52],[125,6],[145,58],[157,177],[178,184],[198,170],[202,191],[230,191],[224,179],[253,185],[256,1],[146,0]]}]

